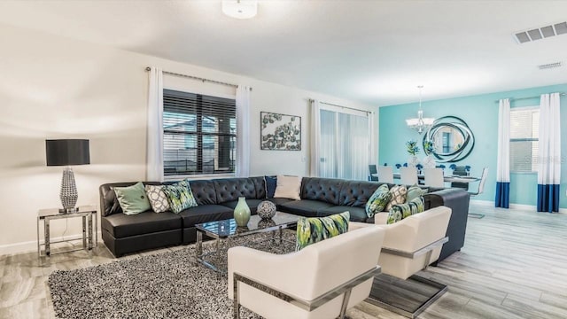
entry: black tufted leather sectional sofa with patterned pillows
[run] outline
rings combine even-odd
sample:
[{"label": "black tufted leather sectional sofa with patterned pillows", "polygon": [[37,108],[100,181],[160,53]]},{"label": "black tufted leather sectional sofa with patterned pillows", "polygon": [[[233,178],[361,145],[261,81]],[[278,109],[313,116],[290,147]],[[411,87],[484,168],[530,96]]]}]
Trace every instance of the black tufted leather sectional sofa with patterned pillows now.
[{"label": "black tufted leather sectional sofa with patterned pillows", "polygon": [[[364,206],[382,183],[348,181],[331,178],[303,177],[301,200],[266,198],[263,176],[248,178],[224,178],[190,181],[190,188],[197,200],[180,214],[147,211],[136,215],[122,214],[113,187],[130,186],[130,183],[105,183],[100,186],[101,230],[105,245],[114,256],[135,253],[169,245],[195,242],[195,225],[232,218],[239,197],[245,197],[252,214],[263,200],[274,202],[282,212],[307,217],[326,216],[349,211],[353,222],[374,222],[368,218]],[[159,185],[156,182],[144,184]],[[164,183],[164,184],[167,184]],[[393,184],[389,184],[392,187]],[[447,236],[439,261],[464,245],[464,235],[469,213],[469,193],[462,189],[430,189],[425,194],[425,209],[445,205],[453,209]]]}]

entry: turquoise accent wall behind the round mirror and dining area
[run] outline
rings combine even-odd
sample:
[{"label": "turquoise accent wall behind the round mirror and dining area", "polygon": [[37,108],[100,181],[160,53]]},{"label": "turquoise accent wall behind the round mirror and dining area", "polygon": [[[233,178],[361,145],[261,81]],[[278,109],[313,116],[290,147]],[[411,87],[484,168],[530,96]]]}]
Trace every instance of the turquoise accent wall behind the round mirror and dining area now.
[{"label": "turquoise accent wall behind the round mirror and dining area", "polygon": [[[475,148],[469,157],[455,164],[470,165],[470,175],[480,176],[483,167],[488,167],[488,178],[485,183],[485,192],[475,199],[494,201],[496,187],[496,158],[498,147],[498,103],[501,98],[523,98],[520,101],[511,101],[510,106],[534,106],[540,105],[540,95],[553,92],[567,92],[567,84],[552,85],[547,87],[518,89],[513,91],[483,94],[471,97],[455,97],[442,100],[422,102],[423,116],[439,118],[453,115],[467,122],[475,136]],[[418,157],[422,159],[423,153],[422,135],[406,126],[406,119],[417,115],[419,104],[382,106],[380,114],[380,141],[378,142],[379,159],[378,164],[395,165],[408,161],[406,142],[414,139],[419,142],[421,152]],[[567,136],[567,98],[561,97],[561,123],[562,136]],[[542,123],[543,124],[543,123]],[[567,137],[561,142],[562,150],[562,174],[561,174],[561,200],[559,206],[567,207],[567,163],[565,153],[567,152]],[[445,163],[448,167],[450,163]],[[448,169],[448,168],[446,168]],[[394,168],[395,170],[395,168]],[[471,183],[470,188],[476,191],[478,183]],[[510,204],[523,204],[535,206],[537,202],[537,175],[536,174],[510,174]]]}]

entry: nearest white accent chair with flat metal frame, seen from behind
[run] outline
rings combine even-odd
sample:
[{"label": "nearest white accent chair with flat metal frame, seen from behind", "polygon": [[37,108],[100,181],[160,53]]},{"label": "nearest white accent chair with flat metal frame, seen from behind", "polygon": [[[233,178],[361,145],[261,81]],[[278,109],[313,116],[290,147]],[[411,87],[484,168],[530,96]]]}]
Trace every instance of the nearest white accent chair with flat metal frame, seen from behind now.
[{"label": "nearest white accent chair with flat metal frame, seen from behind", "polygon": [[349,231],[277,255],[229,249],[229,299],[265,318],[344,318],[369,297],[385,231],[351,222]]}]

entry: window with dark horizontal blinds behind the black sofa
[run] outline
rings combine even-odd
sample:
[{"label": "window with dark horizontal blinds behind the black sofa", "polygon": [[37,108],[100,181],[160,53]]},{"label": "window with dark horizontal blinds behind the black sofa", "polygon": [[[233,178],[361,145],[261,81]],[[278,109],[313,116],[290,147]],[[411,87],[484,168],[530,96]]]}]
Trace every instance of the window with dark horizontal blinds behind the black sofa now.
[{"label": "window with dark horizontal blinds behind the black sofa", "polygon": [[236,144],[234,99],[163,90],[166,177],[234,173]]}]

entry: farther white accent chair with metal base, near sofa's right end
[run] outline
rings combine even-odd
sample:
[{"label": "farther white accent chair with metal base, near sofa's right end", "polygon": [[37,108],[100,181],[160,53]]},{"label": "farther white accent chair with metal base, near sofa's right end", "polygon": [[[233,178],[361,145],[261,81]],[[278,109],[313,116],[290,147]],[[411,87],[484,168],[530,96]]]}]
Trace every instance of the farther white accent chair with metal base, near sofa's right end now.
[{"label": "farther white accent chair with metal base, near sofa's right end", "polygon": [[[415,318],[447,291],[446,285],[416,276],[416,273],[439,259],[441,248],[448,241],[446,232],[451,208],[434,207],[390,225],[385,225],[384,215],[387,216],[387,213],[377,214],[375,218],[377,224],[384,224],[381,227],[386,232],[378,260],[382,274],[377,276],[367,301],[408,318]],[[395,284],[396,281],[406,280],[404,284]],[[408,284],[427,286],[434,293],[409,305],[411,302],[405,296],[416,293],[404,295],[400,291],[400,286],[407,287]]]}]

